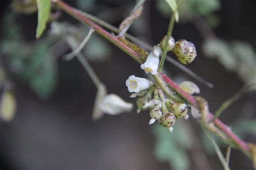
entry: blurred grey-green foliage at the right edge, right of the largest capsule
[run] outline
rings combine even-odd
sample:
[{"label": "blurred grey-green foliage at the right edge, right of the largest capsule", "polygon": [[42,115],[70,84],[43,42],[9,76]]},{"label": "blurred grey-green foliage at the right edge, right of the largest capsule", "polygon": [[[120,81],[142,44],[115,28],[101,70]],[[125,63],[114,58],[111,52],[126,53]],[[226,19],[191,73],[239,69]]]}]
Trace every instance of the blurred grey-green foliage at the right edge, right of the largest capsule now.
[{"label": "blurred grey-green foliage at the right edge, right of the largest capsule", "polygon": [[[228,70],[237,73],[246,84],[256,84],[256,53],[241,41],[231,44],[221,39],[207,39],[203,44],[206,56],[214,57]],[[251,89],[256,89],[252,86]]]}]

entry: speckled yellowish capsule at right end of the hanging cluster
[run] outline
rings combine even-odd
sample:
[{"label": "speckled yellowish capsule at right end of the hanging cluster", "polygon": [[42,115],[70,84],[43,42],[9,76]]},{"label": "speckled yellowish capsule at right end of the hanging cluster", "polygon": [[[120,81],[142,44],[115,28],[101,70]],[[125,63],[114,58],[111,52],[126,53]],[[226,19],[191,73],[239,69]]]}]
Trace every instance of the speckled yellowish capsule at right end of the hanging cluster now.
[{"label": "speckled yellowish capsule at right end of the hanging cluster", "polygon": [[170,110],[176,118],[184,118],[187,115],[187,105],[185,103],[172,102]]}]

